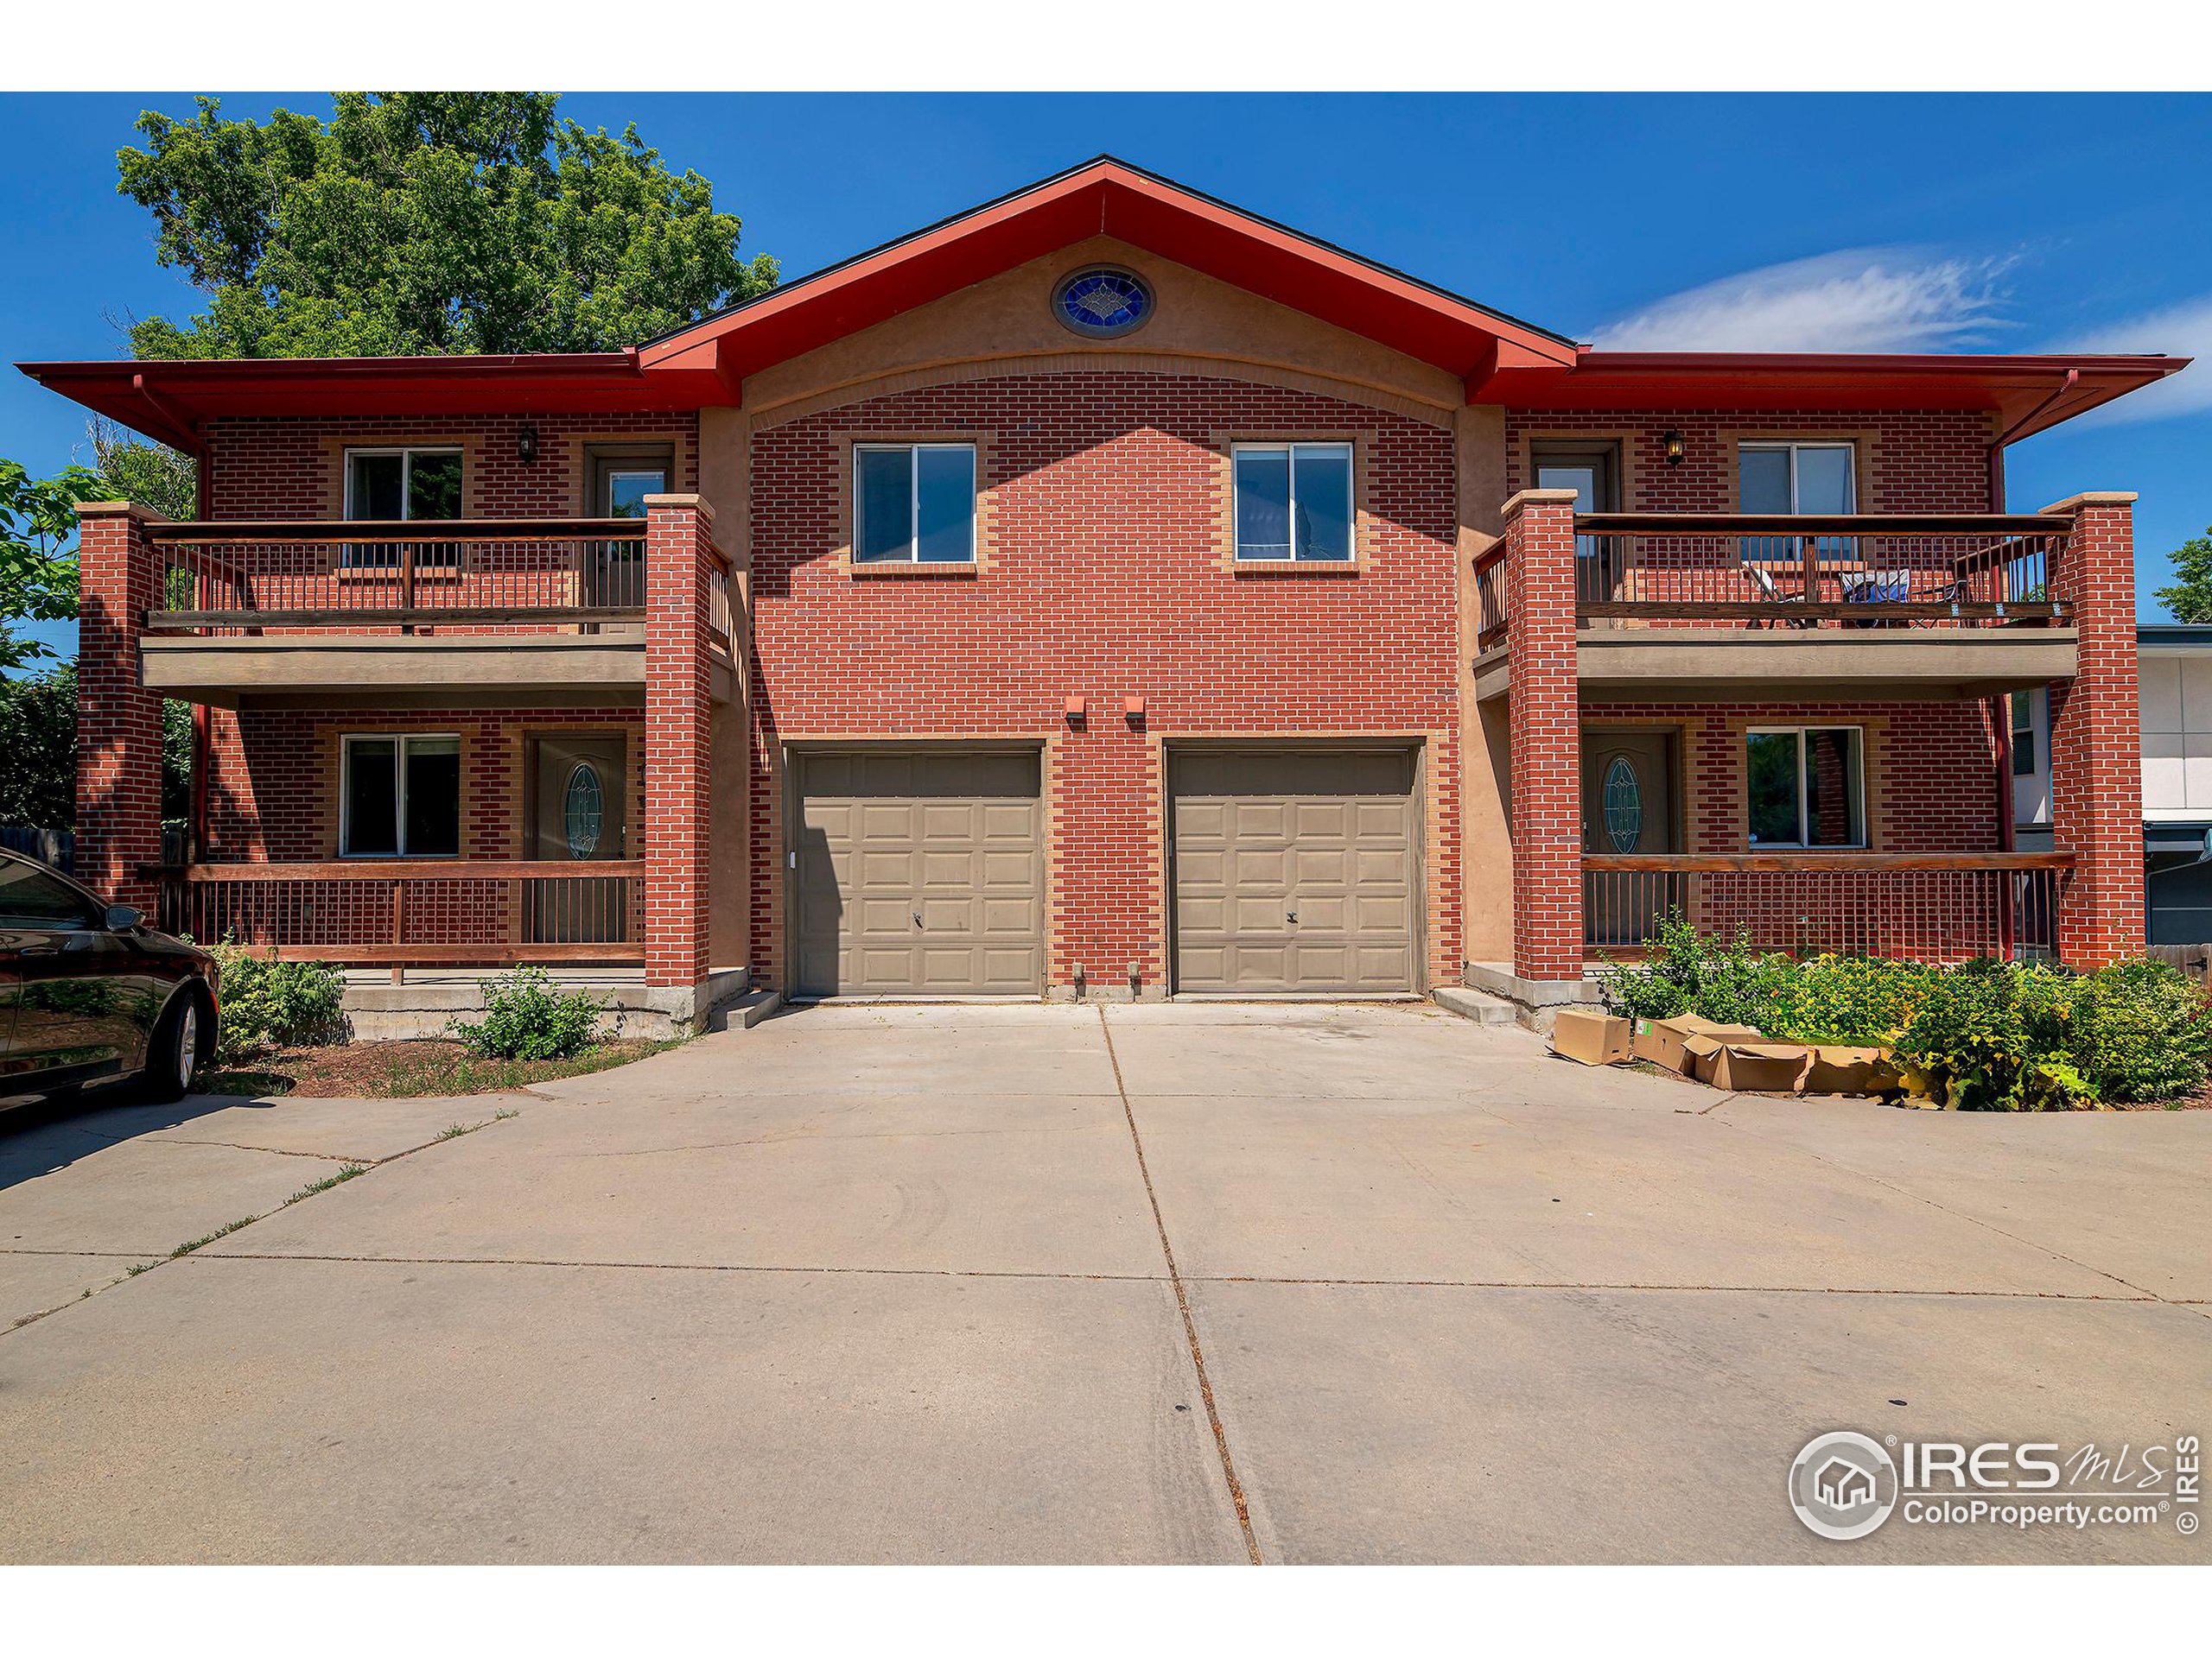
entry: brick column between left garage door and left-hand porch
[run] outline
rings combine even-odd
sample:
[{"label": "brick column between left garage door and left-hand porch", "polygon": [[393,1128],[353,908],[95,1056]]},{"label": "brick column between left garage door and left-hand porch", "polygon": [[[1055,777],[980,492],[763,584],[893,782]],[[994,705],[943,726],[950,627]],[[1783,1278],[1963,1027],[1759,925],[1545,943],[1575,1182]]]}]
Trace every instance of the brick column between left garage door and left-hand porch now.
[{"label": "brick column between left garage door and left-hand porch", "polygon": [[708,973],[710,681],[714,508],[646,495],[646,984]]}]

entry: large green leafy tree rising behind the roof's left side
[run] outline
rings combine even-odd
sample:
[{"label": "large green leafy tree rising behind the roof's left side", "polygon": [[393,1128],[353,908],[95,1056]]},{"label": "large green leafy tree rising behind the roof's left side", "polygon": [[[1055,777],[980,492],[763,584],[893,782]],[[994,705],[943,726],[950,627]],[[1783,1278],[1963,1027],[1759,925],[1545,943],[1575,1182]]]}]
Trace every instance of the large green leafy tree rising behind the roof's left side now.
[{"label": "large green leafy tree rising behind the roof's left side", "polygon": [[137,356],[619,349],[776,281],[706,179],[555,93],[332,97],[330,122],[139,115],[117,188],[208,309],[135,323]]}]

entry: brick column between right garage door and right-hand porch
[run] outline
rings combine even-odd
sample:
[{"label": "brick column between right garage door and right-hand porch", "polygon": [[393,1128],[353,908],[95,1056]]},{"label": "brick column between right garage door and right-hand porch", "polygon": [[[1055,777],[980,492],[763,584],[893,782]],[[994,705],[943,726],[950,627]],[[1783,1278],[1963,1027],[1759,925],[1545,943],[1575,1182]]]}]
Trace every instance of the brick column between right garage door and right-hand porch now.
[{"label": "brick column between right garage door and right-hand porch", "polygon": [[1506,738],[1513,745],[1513,973],[1582,977],[1582,703],[1575,491],[1506,502]]}]

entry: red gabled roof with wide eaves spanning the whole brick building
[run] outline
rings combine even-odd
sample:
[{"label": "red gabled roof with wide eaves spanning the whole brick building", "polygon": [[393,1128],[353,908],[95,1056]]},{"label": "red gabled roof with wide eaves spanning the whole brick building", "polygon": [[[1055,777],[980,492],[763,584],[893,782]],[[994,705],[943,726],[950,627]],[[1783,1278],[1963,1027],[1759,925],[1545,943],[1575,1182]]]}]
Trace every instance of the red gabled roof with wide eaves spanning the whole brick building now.
[{"label": "red gabled roof with wide eaves spanning the whole brick building", "polygon": [[1526,409],[1975,409],[2006,440],[2188,358],[1593,351],[1144,168],[1097,157],[630,351],[20,363],[42,385],[197,451],[217,416],[661,411],[739,402],[745,376],[1091,237],[1201,270]]}]

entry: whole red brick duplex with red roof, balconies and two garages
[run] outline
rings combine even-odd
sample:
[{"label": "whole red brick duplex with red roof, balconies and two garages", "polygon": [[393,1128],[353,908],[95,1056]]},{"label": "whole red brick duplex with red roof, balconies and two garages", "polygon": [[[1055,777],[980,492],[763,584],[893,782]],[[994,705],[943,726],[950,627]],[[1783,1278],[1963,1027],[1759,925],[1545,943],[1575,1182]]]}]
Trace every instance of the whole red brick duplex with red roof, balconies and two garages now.
[{"label": "whole red brick duplex with red roof, balconies and two garages", "polygon": [[2093,964],[2141,948],[2132,497],[2011,513],[2002,455],[2177,367],[1595,351],[1108,159],[633,351],[24,365],[206,502],[86,508],[80,869],[677,1021],[1542,1008],[1672,911]]}]

